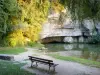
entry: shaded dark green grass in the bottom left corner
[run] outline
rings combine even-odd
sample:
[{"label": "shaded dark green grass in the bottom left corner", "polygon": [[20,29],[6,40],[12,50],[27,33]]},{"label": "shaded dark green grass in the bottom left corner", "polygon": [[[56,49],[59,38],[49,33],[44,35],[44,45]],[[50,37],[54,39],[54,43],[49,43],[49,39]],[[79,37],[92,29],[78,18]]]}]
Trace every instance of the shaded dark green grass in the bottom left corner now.
[{"label": "shaded dark green grass in the bottom left corner", "polygon": [[22,65],[0,60],[0,75],[36,75],[21,69]]}]

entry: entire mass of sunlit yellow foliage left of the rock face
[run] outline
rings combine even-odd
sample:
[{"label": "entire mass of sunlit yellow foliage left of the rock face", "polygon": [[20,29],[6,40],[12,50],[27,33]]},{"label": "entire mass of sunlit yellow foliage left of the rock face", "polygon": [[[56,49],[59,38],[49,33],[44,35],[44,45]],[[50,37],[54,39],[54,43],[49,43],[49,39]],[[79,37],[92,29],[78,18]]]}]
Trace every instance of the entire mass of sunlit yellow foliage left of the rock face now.
[{"label": "entire mass of sunlit yellow foliage left of the rock face", "polygon": [[40,7],[37,5],[37,0],[17,0],[17,2],[21,8],[21,21],[18,23],[18,18],[12,17],[14,28],[7,37],[9,45],[13,47],[25,45],[29,41],[35,42],[39,39],[39,32],[46,20],[50,5],[48,0],[38,0]]}]

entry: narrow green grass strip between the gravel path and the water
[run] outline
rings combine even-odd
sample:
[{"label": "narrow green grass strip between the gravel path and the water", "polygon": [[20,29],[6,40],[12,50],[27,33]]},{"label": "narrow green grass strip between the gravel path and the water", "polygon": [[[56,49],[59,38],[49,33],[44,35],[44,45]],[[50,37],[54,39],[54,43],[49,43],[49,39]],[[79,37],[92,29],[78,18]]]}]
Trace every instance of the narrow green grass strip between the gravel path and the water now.
[{"label": "narrow green grass strip between the gravel path and the water", "polygon": [[92,61],[92,60],[87,60],[87,59],[82,59],[82,58],[77,58],[77,57],[71,57],[71,56],[60,56],[59,54],[49,54],[49,56],[52,56],[60,60],[73,61],[73,62],[78,62],[81,64],[89,65],[92,67],[100,68],[100,62],[97,62],[97,61]]}]

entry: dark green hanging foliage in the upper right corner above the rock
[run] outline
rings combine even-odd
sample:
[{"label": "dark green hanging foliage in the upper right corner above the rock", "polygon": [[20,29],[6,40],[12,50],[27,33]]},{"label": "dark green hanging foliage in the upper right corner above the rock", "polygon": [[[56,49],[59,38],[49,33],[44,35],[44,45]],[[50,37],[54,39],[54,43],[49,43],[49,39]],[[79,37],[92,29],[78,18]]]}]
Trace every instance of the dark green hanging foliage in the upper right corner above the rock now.
[{"label": "dark green hanging foliage in the upper right corner above the rock", "polygon": [[71,13],[73,19],[100,20],[100,0],[60,0]]}]

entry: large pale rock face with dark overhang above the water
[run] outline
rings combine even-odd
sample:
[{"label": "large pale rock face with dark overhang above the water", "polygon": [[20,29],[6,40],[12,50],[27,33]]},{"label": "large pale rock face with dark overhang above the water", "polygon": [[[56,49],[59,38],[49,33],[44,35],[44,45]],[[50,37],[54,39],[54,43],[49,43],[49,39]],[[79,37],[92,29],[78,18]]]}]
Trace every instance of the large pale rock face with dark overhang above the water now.
[{"label": "large pale rock face with dark overhang above the water", "polygon": [[[43,25],[41,32],[42,42],[65,42],[65,43],[87,43],[93,35],[94,23],[92,20],[84,20],[80,25],[76,20],[75,22],[71,18],[66,18],[63,25],[57,24],[59,14],[53,14],[49,16],[48,22]],[[100,32],[100,23],[96,28]]]}]

